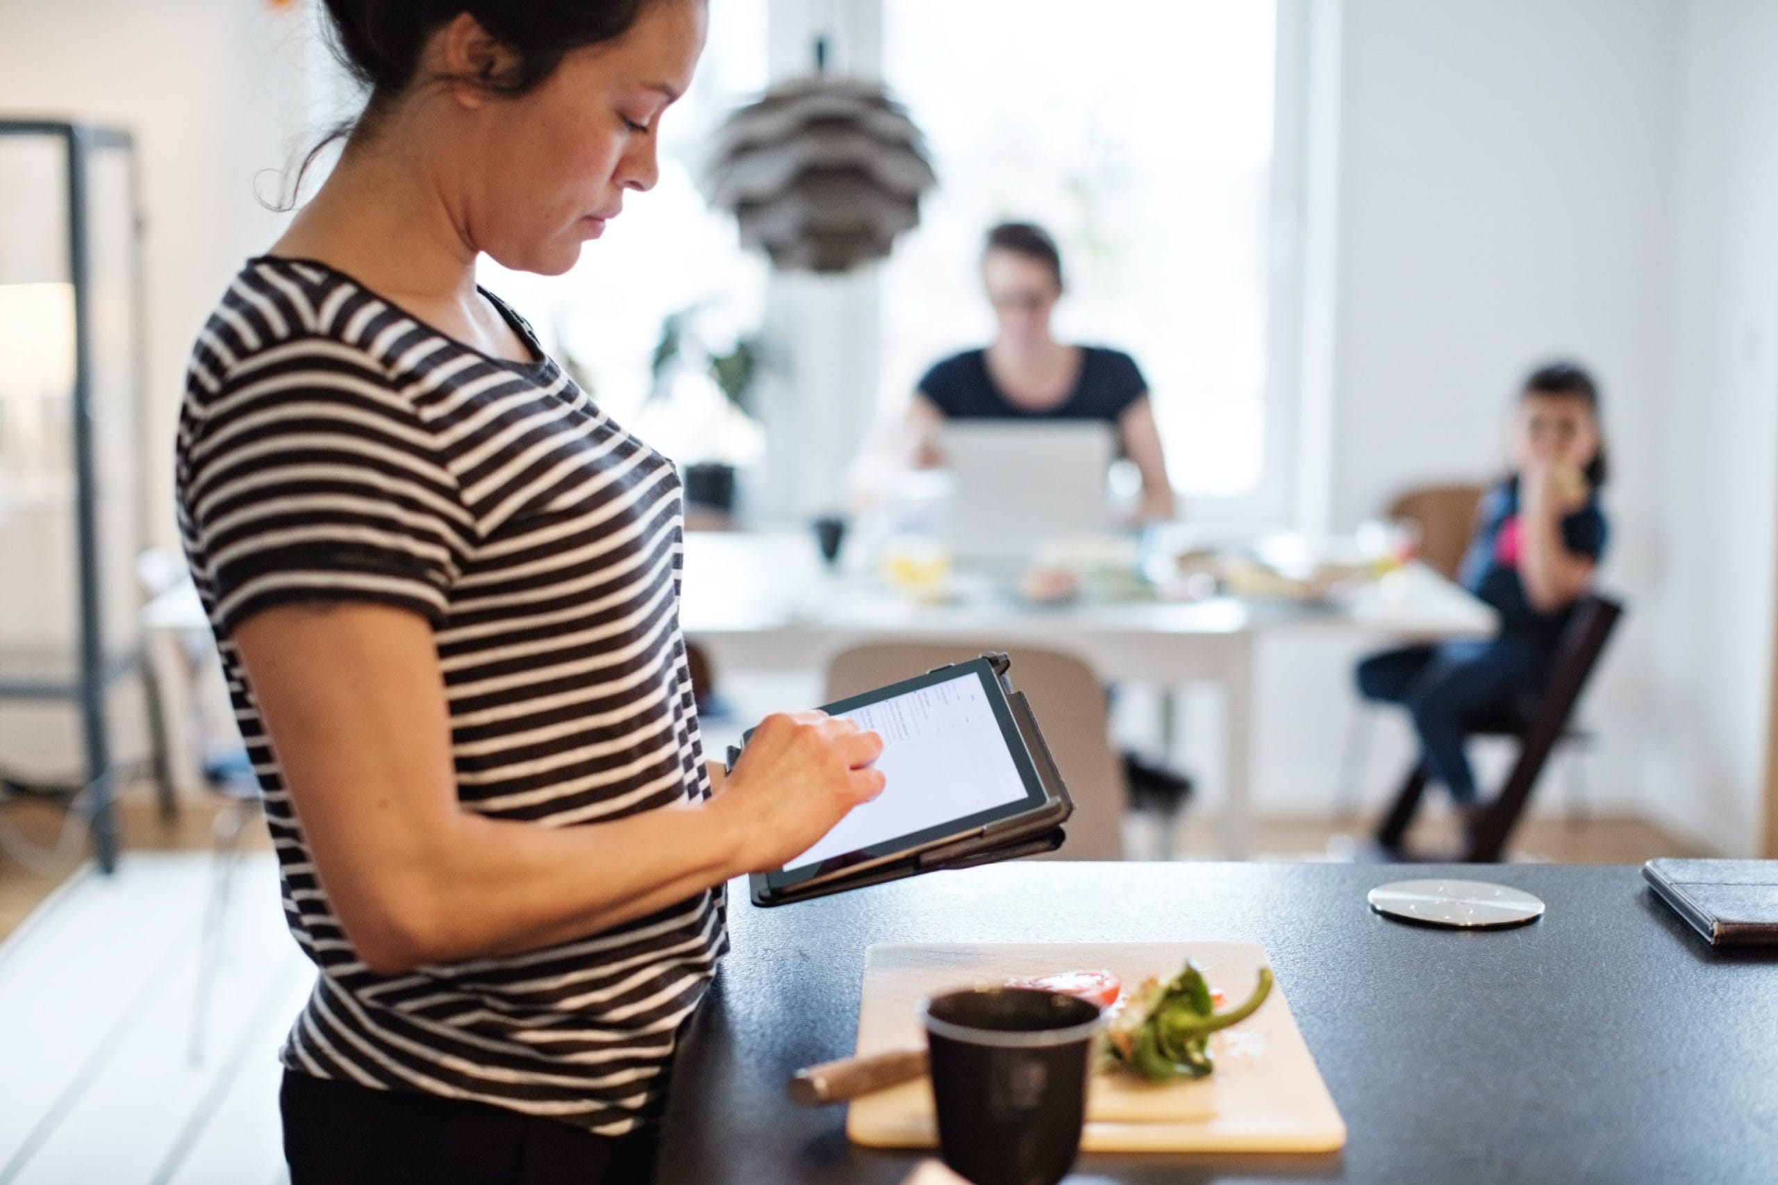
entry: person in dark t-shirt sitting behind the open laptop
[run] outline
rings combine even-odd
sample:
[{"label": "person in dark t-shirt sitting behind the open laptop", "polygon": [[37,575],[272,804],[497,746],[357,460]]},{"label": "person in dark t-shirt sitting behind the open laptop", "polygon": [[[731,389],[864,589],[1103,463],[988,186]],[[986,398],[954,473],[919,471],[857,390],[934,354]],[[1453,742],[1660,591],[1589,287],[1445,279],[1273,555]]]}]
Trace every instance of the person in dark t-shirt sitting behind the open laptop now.
[{"label": "person in dark t-shirt sitting behind the open laptop", "polygon": [[1161,433],[1149,384],[1136,361],[1104,346],[1063,345],[1051,330],[1061,300],[1061,252],[1029,222],[989,231],[981,284],[994,306],[996,334],[926,371],[909,407],[921,451],[946,419],[1097,419],[1117,428],[1124,455],[1141,471],[1138,519],[1173,517]]}]

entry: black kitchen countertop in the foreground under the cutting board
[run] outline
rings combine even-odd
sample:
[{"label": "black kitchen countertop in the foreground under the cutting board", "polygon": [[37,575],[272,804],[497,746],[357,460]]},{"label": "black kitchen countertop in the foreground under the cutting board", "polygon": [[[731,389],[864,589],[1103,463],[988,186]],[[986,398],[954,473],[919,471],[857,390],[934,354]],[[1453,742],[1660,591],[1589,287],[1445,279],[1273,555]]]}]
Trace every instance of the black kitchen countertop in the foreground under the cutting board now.
[{"label": "black kitchen countertop in the foreground under the cutting board", "polygon": [[[1383,917],[1398,879],[1540,897],[1510,929]],[[1001,863],[779,908],[729,892],[733,950],[679,1046],[661,1185],[896,1185],[786,1084],[853,1050],[871,943],[1262,943],[1346,1123],[1334,1153],[1081,1153],[1074,1185],[1778,1180],[1778,950],[1716,949],[1636,867]]]}]

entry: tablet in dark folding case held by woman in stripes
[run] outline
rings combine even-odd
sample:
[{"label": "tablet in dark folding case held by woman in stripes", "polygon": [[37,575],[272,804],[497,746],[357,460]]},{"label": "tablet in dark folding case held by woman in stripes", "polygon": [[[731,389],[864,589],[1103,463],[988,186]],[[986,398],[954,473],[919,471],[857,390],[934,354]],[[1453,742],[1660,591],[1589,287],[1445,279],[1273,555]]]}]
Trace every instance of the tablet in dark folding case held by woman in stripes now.
[{"label": "tablet in dark folding case held by woman in stripes", "polygon": [[813,888],[996,833],[1053,828],[1067,817],[1065,791],[1045,783],[1006,688],[985,657],[821,711],[882,736],[875,767],[884,773],[884,792],[855,807],[782,869],[754,878],[756,897]]}]

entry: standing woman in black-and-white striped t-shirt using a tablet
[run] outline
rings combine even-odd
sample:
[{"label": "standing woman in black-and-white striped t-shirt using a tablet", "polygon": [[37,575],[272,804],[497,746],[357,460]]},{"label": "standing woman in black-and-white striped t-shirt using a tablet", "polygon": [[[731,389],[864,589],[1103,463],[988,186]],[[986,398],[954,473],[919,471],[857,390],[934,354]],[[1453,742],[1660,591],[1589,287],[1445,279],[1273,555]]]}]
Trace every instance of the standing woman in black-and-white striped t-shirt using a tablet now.
[{"label": "standing woman in black-and-white striped t-shirt using a tablet", "polygon": [[873,734],[706,766],[679,483],[475,282],[654,185],[704,0],[327,0],[370,87],[199,334],[180,522],[318,968],[295,1185],[642,1180],[724,883],[882,789]]}]

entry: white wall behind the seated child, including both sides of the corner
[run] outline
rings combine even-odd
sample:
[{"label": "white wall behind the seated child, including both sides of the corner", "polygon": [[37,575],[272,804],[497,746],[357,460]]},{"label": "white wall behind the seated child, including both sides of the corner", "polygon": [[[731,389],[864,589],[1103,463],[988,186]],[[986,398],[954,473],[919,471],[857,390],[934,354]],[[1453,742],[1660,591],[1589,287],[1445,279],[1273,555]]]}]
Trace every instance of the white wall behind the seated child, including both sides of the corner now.
[{"label": "white wall behind the seated child, including both sides of the corner", "polygon": [[[1332,524],[1499,469],[1527,362],[1581,357],[1629,602],[1591,805],[1751,855],[1778,549],[1778,5],[1346,0]],[[1266,656],[1257,794],[1319,810],[1351,652]],[[1408,755],[1389,721],[1371,801]],[[1561,805],[1545,787],[1540,805]]]}]

